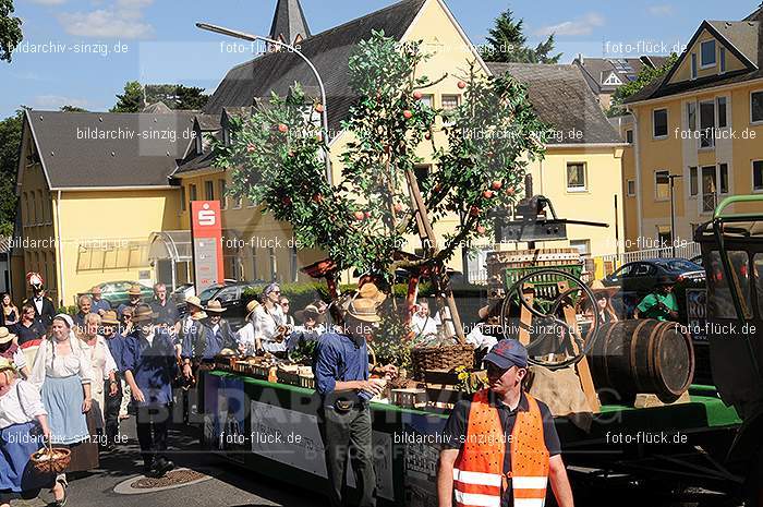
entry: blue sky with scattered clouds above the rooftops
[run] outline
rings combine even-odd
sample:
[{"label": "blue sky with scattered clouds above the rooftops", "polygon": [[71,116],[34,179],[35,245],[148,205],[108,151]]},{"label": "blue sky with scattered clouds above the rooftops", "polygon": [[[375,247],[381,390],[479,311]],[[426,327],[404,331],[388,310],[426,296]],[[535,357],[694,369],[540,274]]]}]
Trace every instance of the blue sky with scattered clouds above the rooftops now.
[{"label": "blue sky with scattered clouds above the rooftops", "polygon": [[[14,0],[24,43],[0,62],[0,118],[21,105],[108,110],[128,81],[180,83],[214,92],[226,72],[250,60],[249,48],[221,51],[227,39],[196,22],[267,35],[277,0]],[[316,34],[396,0],[302,0]],[[556,34],[561,62],[578,53],[621,57],[669,53],[702,20],[741,20],[760,0],[446,0],[473,44],[510,8],[538,43]],[[237,50],[240,49],[240,50]],[[45,51],[45,52],[44,52]]]}]

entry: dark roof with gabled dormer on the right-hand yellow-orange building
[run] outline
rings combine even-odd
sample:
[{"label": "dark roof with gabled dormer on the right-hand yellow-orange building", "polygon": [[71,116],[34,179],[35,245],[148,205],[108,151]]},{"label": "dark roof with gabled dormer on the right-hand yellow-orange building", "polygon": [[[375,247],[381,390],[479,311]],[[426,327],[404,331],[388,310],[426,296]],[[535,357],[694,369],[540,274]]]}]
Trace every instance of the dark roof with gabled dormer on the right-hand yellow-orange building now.
[{"label": "dark roof with gabled dormer on the right-hand yellow-orange building", "polygon": [[641,88],[639,93],[628,97],[623,104],[763,79],[763,9],[753,12],[742,22],[705,21],[687,46],[691,47],[703,29],[707,29],[722,41],[724,39],[728,41],[729,50],[737,58],[742,61],[749,60],[749,68],[723,75],[711,75],[670,84],[670,77],[687,56],[685,51],[669,72]]}]

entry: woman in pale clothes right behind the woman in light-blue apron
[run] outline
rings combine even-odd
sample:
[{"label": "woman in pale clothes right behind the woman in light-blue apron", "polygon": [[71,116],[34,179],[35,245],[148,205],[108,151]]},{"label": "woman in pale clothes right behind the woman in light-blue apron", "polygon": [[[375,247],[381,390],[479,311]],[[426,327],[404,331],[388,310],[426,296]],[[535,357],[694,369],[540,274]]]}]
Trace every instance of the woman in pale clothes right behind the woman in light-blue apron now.
[{"label": "woman in pale clothes right behind the woman in light-blue apron", "polygon": [[100,329],[100,315],[88,313],[84,318],[85,334],[82,339],[90,349],[90,360],[93,366],[93,378],[90,391],[93,394],[93,411],[96,415],[96,427],[102,433],[106,410],[106,379],[109,381],[109,397],[117,396],[119,386],[117,384],[117,362],[111,355],[106,339],[98,335]]}]

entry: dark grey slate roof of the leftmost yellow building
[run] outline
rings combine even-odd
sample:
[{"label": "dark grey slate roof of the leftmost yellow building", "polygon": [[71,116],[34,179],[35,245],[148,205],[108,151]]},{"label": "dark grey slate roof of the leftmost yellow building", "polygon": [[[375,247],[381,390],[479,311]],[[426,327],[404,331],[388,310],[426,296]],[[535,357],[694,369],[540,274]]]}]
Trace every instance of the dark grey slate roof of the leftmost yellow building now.
[{"label": "dark grey slate roof of the leftmost yellow building", "polygon": [[[192,111],[26,111],[52,189],[169,184],[190,143],[193,117]],[[118,138],[97,138],[105,132]]]}]

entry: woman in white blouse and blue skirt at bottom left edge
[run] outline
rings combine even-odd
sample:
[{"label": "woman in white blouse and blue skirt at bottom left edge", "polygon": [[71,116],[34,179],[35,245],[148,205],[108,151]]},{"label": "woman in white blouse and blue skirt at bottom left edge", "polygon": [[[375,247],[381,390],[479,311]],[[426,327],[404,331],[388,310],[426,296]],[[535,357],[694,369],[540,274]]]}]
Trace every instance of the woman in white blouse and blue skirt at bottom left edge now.
[{"label": "woman in white blouse and blue skirt at bottom left edge", "polygon": [[50,426],[39,393],[16,377],[11,361],[0,358],[0,507],[37,496],[43,487],[52,487],[52,505],[65,502],[63,486],[34,473],[29,466],[29,457],[43,447],[44,438],[50,438]]}]

